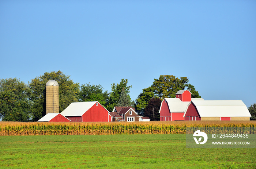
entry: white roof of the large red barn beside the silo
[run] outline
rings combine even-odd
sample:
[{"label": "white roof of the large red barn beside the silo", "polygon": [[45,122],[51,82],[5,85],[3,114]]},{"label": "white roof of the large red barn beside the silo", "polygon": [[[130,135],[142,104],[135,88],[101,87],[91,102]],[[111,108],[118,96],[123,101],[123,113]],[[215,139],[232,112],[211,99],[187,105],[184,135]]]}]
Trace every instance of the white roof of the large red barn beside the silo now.
[{"label": "white roof of the large red barn beside the silo", "polygon": [[100,104],[98,101],[83,101],[83,102],[71,103],[71,104],[69,104],[69,106],[67,108],[65,108],[65,110],[63,110],[63,112],[61,112],[61,115],[63,115],[63,116],[82,116],[85,112],[87,112],[96,103]]}]

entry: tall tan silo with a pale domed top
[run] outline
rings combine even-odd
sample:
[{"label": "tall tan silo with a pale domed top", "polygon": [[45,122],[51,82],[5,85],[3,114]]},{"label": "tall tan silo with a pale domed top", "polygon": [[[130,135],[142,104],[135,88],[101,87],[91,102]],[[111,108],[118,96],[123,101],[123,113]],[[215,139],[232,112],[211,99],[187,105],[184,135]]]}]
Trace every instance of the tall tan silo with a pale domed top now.
[{"label": "tall tan silo with a pale domed top", "polygon": [[46,83],[46,114],[59,113],[59,84],[55,80]]}]

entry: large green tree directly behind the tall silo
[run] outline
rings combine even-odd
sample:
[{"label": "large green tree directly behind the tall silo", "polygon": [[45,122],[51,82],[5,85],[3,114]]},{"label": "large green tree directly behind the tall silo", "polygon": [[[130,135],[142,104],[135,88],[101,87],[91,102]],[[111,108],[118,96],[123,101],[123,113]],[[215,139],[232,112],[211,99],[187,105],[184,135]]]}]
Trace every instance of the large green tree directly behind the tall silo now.
[{"label": "large green tree directly behind the tall silo", "polygon": [[60,70],[57,72],[45,72],[44,75],[35,77],[31,80],[29,87],[31,89],[31,113],[33,121],[37,121],[46,114],[46,82],[55,80],[59,84],[59,111],[62,112],[72,102],[78,102],[79,83],[74,83],[69,76]]}]

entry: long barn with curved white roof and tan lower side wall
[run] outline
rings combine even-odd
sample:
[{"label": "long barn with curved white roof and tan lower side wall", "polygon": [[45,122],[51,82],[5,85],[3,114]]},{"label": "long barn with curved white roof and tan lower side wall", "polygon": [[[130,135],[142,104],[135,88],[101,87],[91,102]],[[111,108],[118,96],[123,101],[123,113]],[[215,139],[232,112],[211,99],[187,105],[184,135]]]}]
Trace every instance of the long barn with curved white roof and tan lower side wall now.
[{"label": "long barn with curved white roof and tan lower side wall", "polygon": [[250,120],[242,100],[192,100],[183,115],[185,120]]}]

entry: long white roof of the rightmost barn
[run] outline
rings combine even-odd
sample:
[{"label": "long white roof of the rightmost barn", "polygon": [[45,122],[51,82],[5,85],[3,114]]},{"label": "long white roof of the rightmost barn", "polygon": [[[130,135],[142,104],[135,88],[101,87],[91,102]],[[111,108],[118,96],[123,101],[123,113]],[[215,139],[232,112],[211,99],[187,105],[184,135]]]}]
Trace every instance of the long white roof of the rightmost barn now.
[{"label": "long white roof of the rightmost barn", "polygon": [[192,103],[200,117],[251,117],[242,100],[192,100]]}]

